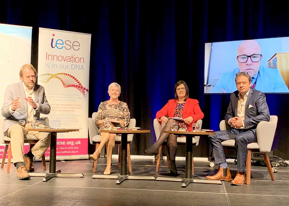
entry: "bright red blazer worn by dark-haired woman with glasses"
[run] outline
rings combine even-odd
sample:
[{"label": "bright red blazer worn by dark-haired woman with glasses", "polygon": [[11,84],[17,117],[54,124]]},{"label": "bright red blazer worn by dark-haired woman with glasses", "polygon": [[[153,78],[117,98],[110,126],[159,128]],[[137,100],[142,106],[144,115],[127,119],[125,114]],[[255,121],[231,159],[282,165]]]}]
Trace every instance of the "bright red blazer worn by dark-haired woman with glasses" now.
[{"label": "bright red blazer worn by dark-haired woman with glasses", "polygon": [[[168,117],[174,116],[177,101],[178,100],[168,100],[168,103],[166,103],[166,105],[160,111],[157,112],[155,118],[158,119],[160,124],[162,123],[162,120],[160,119],[162,116],[167,115]],[[196,123],[199,119],[203,119],[204,114],[201,111],[198,100],[188,98],[183,108],[183,119],[186,119],[187,117],[190,116],[194,118],[194,121],[192,121],[188,125],[188,130],[192,131],[192,124]]]}]

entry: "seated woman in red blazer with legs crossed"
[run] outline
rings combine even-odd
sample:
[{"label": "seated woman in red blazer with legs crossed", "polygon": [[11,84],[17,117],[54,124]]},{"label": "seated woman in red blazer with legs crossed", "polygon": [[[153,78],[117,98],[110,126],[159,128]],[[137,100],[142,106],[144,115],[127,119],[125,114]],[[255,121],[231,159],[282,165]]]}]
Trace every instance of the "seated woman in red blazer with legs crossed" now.
[{"label": "seated woman in red blazer with legs crossed", "polygon": [[[175,84],[175,99],[169,100],[168,103],[156,114],[156,118],[162,124],[163,129],[160,132],[158,140],[144,152],[148,155],[158,154],[162,143],[167,140],[168,153],[171,164],[171,176],[177,176],[176,153],[177,153],[177,135],[164,133],[164,130],[170,130],[171,123],[178,123],[178,128],[185,128],[192,131],[192,124],[197,120],[203,119],[204,114],[201,111],[198,100],[190,99],[189,88],[187,84],[180,80]],[[168,119],[168,117],[181,117],[184,121]]]}]

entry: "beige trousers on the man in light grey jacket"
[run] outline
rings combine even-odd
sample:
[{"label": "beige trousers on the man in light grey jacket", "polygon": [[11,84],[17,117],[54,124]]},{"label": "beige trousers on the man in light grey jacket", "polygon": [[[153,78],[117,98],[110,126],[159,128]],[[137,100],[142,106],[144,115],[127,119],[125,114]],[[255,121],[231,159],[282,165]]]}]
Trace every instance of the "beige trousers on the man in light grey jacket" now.
[{"label": "beige trousers on the man in light grey jacket", "polygon": [[[41,126],[42,124],[40,124]],[[34,135],[39,141],[32,147],[31,152],[32,154],[37,157],[41,158],[47,148],[50,145],[50,135],[49,132],[35,132],[35,131],[28,131],[28,128],[32,128],[31,123],[25,123],[24,126],[19,124],[14,124],[8,128],[5,132],[6,136],[11,138],[11,150],[13,156],[13,162],[24,162],[23,160],[23,150],[24,150],[24,135],[25,134],[32,134]]]}]

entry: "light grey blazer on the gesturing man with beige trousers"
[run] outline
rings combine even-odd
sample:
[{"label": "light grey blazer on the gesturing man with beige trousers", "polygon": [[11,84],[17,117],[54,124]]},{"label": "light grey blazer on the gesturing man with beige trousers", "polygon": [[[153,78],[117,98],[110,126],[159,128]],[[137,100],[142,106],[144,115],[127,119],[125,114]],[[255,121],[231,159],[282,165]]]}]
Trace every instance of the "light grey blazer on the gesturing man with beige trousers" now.
[{"label": "light grey blazer on the gesturing man with beige trousers", "polygon": [[[10,113],[9,107],[15,98],[19,97],[21,102],[21,107],[17,108],[14,113]],[[27,101],[24,99],[25,91],[23,87],[23,82],[15,83],[9,85],[4,94],[4,102],[1,108],[1,114],[4,119],[3,132],[8,130],[8,128],[14,124],[24,125],[27,119]],[[34,102],[39,104],[39,109],[34,115],[34,120],[39,120],[39,123],[47,125],[46,121],[40,118],[40,113],[49,114],[50,106],[45,96],[44,87],[35,84],[34,86]]]}]

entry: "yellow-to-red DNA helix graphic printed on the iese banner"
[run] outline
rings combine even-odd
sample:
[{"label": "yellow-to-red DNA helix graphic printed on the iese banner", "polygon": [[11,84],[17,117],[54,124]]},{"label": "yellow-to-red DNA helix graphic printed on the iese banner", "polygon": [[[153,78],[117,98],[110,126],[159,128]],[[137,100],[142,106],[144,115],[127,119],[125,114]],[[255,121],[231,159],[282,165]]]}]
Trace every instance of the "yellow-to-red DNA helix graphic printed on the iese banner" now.
[{"label": "yellow-to-red DNA helix graphic printed on the iese banner", "polygon": [[62,82],[64,88],[74,87],[78,89],[84,97],[86,97],[86,94],[88,93],[88,89],[83,87],[79,82],[79,80],[75,76],[72,76],[71,74],[57,73],[57,74],[41,74],[38,76],[38,80],[43,83],[49,82],[49,80],[51,80],[52,78],[59,79]]}]

